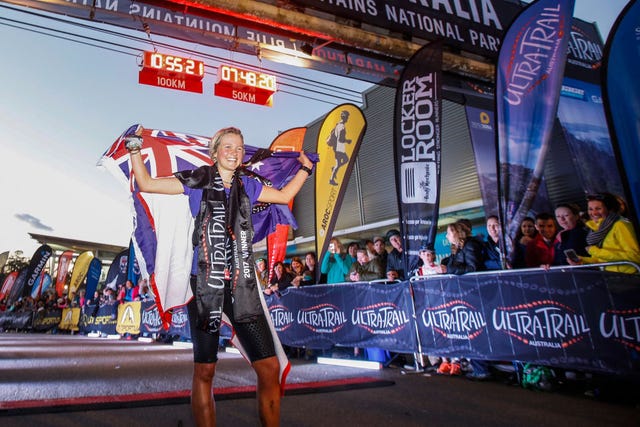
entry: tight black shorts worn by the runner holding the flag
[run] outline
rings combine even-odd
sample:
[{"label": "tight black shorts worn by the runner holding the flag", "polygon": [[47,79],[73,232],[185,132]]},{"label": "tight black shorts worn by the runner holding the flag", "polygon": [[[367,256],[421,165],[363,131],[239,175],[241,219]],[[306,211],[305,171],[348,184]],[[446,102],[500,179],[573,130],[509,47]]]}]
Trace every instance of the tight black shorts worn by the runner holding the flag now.
[{"label": "tight black shorts worn by the runner holding the flag", "polygon": [[[192,286],[195,287],[192,277]],[[195,293],[195,292],[194,292]],[[191,328],[191,342],[193,343],[193,361],[195,363],[215,363],[218,361],[218,345],[220,332],[210,334],[196,326],[198,309],[196,299],[192,298],[187,304],[189,310],[189,326]],[[240,344],[244,347],[250,362],[266,359],[276,355],[273,337],[269,330],[269,323],[265,314],[261,314],[255,321],[238,323],[234,321],[233,304],[231,303],[231,289],[225,288],[224,307],[222,311],[231,321]]]}]

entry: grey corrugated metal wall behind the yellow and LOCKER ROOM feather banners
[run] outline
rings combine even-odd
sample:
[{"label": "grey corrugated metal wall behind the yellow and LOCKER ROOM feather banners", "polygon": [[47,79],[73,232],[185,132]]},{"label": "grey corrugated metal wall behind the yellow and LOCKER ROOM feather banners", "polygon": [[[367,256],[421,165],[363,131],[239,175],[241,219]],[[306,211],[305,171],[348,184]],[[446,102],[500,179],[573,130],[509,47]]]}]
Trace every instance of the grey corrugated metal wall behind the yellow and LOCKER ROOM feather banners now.
[{"label": "grey corrugated metal wall behind the yellow and LOCKER ROOM feather banners", "polygon": [[[395,89],[375,87],[364,94],[362,108],[367,131],[360,146],[335,230],[393,221],[398,218],[393,163],[393,105]],[[460,104],[443,102],[442,189],[440,208],[462,203],[479,203],[480,186],[464,112]],[[322,118],[309,126],[304,149],[316,150]],[[313,236],[314,188],[309,180],[296,197],[294,214],[299,229],[296,237]]]}]

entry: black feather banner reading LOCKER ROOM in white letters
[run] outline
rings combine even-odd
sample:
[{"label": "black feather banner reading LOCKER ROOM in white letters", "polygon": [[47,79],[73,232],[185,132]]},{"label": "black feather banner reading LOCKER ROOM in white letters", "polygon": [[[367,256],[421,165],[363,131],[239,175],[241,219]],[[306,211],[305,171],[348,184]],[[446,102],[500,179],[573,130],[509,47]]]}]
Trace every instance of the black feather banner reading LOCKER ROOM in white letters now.
[{"label": "black feather banner reading LOCKER ROOM in white letters", "polygon": [[442,45],[417,51],[405,67],[395,99],[394,159],[404,271],[420,246],[434,245],[440,206]]}]

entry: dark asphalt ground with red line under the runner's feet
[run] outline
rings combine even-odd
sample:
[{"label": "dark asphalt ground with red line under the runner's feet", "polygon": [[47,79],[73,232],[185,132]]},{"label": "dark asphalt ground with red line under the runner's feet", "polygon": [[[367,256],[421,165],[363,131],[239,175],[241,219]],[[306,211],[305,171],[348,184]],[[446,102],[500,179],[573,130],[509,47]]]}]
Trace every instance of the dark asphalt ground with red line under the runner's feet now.
[{"label": "dark asphalt ground with red line under the runner's feet", "polygon": [[[83,336],[0,334],[0,426],[192,426],[191,350]],[[640,386],[621,378],[526,390],[492,381],[292,359],[283,426],[640,426]],[[221,353],[218,425],[259,425],[255,375]]]}]

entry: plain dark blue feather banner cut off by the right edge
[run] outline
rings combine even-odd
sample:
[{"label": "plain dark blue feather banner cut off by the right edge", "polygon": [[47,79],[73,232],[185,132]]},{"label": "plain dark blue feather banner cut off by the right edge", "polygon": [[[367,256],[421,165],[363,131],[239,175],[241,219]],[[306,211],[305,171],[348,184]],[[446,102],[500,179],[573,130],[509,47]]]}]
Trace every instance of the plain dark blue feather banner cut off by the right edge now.
[{"label": "plain dark blue feather banner cut off by the right edge", "polygon": [[620,169],[628,216],[640,233],[640,3],[631,1],[616,21],[605,48],[605,108]]}]

